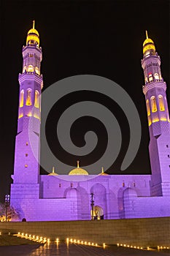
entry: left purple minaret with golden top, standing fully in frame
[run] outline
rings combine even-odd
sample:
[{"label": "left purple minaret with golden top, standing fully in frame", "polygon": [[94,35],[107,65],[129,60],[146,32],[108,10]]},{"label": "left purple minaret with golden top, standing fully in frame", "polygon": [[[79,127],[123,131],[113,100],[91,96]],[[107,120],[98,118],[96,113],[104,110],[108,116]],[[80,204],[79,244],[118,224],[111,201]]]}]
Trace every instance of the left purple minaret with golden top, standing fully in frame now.
[{"label": "left purple minaret with golden top, standing fully in frame", "polygon": [[[23,46],[23,71],[19,74],[18,134],[12,176],[14,184],[38,184],[39,182],[41,61],[42,48],[39,47],[39,33],[33,21],[33,28],[28,31],[26,37],[26,46]],[[29,138],[34,141],[34,145]],[[33,147],[34,150],[32,150]]]}]

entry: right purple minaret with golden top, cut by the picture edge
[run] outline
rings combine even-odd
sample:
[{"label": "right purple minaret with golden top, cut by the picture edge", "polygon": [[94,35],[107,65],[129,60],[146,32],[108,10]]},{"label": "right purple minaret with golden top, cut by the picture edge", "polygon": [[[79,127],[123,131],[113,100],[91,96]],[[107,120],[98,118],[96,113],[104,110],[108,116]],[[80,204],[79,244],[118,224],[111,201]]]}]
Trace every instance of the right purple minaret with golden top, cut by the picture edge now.
[{"label": "right purple minaret with golden top, cut by the picture edge", "polygon": [[166,83],[161,75],[161,59],[152,39],[143,43],[143,92],[147,105],[150,131],[151,195],[168,195],[170,192],[170,127],[166,100]]}]

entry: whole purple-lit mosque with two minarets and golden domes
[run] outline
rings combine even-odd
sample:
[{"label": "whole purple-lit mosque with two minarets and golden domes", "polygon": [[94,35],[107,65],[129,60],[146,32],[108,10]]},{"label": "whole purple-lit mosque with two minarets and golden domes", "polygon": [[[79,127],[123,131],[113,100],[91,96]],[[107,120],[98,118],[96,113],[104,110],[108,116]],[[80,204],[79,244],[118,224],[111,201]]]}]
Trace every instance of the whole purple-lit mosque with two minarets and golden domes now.
[{"label": "whole purple-lit mosque with two minarets and golden domes", "polygon": [[[27,221],[130,219],[169,217],[170,214],[170,122],[166,83],[161,59],[152,39],[143,43],[142,68],[150,132],[151,175],[98,175],[77,167],[68,176],[53,172],[40,175],[40,108],[43,86],[39,32],[28,31],[23,46],[15,165],[10,203]],[[29,143],[34,138],[34,154]],[[35,157],[36,154],[36,157]],[[89,178],[90,176],[90,178]]]}]

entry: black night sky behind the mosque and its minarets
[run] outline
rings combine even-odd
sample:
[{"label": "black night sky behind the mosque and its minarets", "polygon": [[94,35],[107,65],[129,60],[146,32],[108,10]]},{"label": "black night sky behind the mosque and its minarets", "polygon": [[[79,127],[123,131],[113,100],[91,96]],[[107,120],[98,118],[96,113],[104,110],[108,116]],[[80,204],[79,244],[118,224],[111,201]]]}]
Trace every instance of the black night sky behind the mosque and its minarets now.
[{"label": "black night sky behind the mosque and its minarets", "polygon": [[[107,172],[150,173],[149,132],[142,93],[142,44],[147,29],[161,56],[161,71],[168,86],[169,99],[169,1],[6,0],[1,1],[0,200],[4,200],[4,195],[9,193],[9,184],[12,182],[10,175],[13,172],[18,118],[18,73],[22,70],[22,46],[26,45],[26,34],[34,19],[43,51],[44,89],[62,78],[90,74],[114,80],[131,96],[142,123],[142,141],[134,162],[128,170],[120,172],[129,129],[127,121],[124,121],[125,116],[115,102],[99,94],[74,94],[58,103],[59,112],[62,112],[62,107],[65,109],[76,102],[77,98],[93,100],[94,97],[98,102],[103,102],[120,121],[124,138],[120,155]],[[50,146],[56,149],[58,141],[54,135],[54,115],[55,118],[58,115],[55,108],[50,113],[47,137]],[[83,131],[93,129],[99,137],[101,134],[104,136],[99,139],[96,151],[87,157],[65,157],[65,153],[61,152],[59,157],[69,165],[74,166],[78,158],[82,166],[85,162],[90,165],[101,157],[101,148],[107,146],[104,126],[95,118],[84,118],[82,123],[80,120],[73,125],[72,138],[77,146],[83,145],[82,133],[76,132],[82,130],[81,126]],[[42,173],[45,171],[42,170]]]}]

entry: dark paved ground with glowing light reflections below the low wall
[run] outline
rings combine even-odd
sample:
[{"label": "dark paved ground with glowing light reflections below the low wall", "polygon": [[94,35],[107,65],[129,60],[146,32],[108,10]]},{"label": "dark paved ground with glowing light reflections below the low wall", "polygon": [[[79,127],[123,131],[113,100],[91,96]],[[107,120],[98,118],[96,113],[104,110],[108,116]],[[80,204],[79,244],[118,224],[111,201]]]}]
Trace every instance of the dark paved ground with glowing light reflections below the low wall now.
[{"label": "dark paved ground with glowing light reflections below the low wall", "polygon": [[[7,245],[9,244],[9,245]],[[16,244],[16,245],[12,245]],[[129,249],[125,247],[85,246],[80,244],[66,244],[60,241],[52,241],[46,244],[38,244],[24,238],[13,236],[0,236],[0,256],[168,256],[170,250],[164,252],[147,251],[141,249]]]}]

